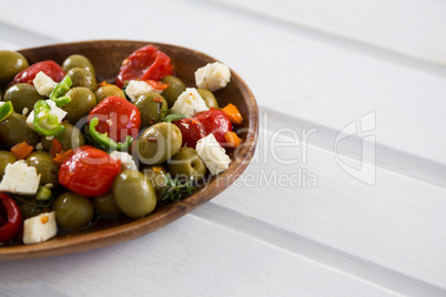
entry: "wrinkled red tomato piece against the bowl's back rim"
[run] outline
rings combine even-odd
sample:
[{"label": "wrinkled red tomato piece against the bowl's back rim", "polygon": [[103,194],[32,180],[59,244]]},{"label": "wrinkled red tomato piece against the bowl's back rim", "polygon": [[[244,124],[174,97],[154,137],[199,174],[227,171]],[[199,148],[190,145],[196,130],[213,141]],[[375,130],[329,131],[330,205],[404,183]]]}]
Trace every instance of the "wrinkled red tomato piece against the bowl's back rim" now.
[{"label": "wrinkled red tomato piece against the bowl's back rim", "polygon": [[131,80],[160,81],[170,74],[173,74],[173,66],[169,55],[150,44],[136,50],[122,61],[116,85],[122,88],[125,81]]}]

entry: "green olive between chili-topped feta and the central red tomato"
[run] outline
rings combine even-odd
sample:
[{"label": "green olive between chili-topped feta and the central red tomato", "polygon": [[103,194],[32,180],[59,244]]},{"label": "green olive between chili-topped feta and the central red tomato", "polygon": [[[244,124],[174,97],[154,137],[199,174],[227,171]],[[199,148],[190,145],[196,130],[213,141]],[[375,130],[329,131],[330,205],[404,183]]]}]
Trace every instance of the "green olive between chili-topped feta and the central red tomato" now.
[{"label": "green olive between chili-topped feta and the central red tomato", "polygon": [[87,116],[97,105],[94,93],[87,88],[73,88],[68,91],[67,95],[71,98],[71,101],[62,106],[62,110],[68,112],[65,120],[73,125],[75,125],[83,116]]}]

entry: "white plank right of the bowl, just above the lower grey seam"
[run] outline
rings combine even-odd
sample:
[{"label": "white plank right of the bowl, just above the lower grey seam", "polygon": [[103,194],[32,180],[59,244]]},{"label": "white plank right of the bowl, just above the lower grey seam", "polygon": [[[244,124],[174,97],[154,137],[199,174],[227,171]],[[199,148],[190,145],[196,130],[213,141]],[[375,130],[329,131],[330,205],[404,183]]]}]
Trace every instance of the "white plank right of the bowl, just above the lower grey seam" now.
[{"label": "white plank right of the bowl, just above the lower grey seam", "polygon": [[[277,160],[264,150],[264,136],[252,165],[216,204],[446,288],[446,190],[363,163],[376,171],[376,183],[368,185],[347,174],[333,152],[312,145],[306,162],[302,145],[281,148]],[[285,136],[278,141],[291,143]],[[295,158],[297,164],[282,162]]]}]

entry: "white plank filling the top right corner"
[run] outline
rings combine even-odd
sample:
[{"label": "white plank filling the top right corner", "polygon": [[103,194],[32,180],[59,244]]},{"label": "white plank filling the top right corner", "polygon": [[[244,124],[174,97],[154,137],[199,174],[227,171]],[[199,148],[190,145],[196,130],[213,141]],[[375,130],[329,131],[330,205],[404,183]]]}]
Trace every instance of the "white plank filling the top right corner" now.
[{"label": "white plank filling the top right corner", "polygon": [[446,65],[444,1],[209,1]]}]

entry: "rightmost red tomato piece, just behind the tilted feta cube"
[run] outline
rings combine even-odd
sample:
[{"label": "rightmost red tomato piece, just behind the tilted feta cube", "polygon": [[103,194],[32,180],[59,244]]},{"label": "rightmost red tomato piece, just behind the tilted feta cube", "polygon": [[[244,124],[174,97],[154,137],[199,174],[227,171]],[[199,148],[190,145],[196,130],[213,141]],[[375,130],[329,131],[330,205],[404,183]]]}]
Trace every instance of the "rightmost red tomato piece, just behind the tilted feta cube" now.
[{"label": "rightmost red tomato piece, just behind the tilted feta cube", "polygon": [[196,142],[209,135],[214,134],[215,140],[226,146],[224,134],[232,131],[231,120],[221,110],[210,109],[194,117],[183,119],[173,122],[183,136],[183,146],[195,148]]}]

